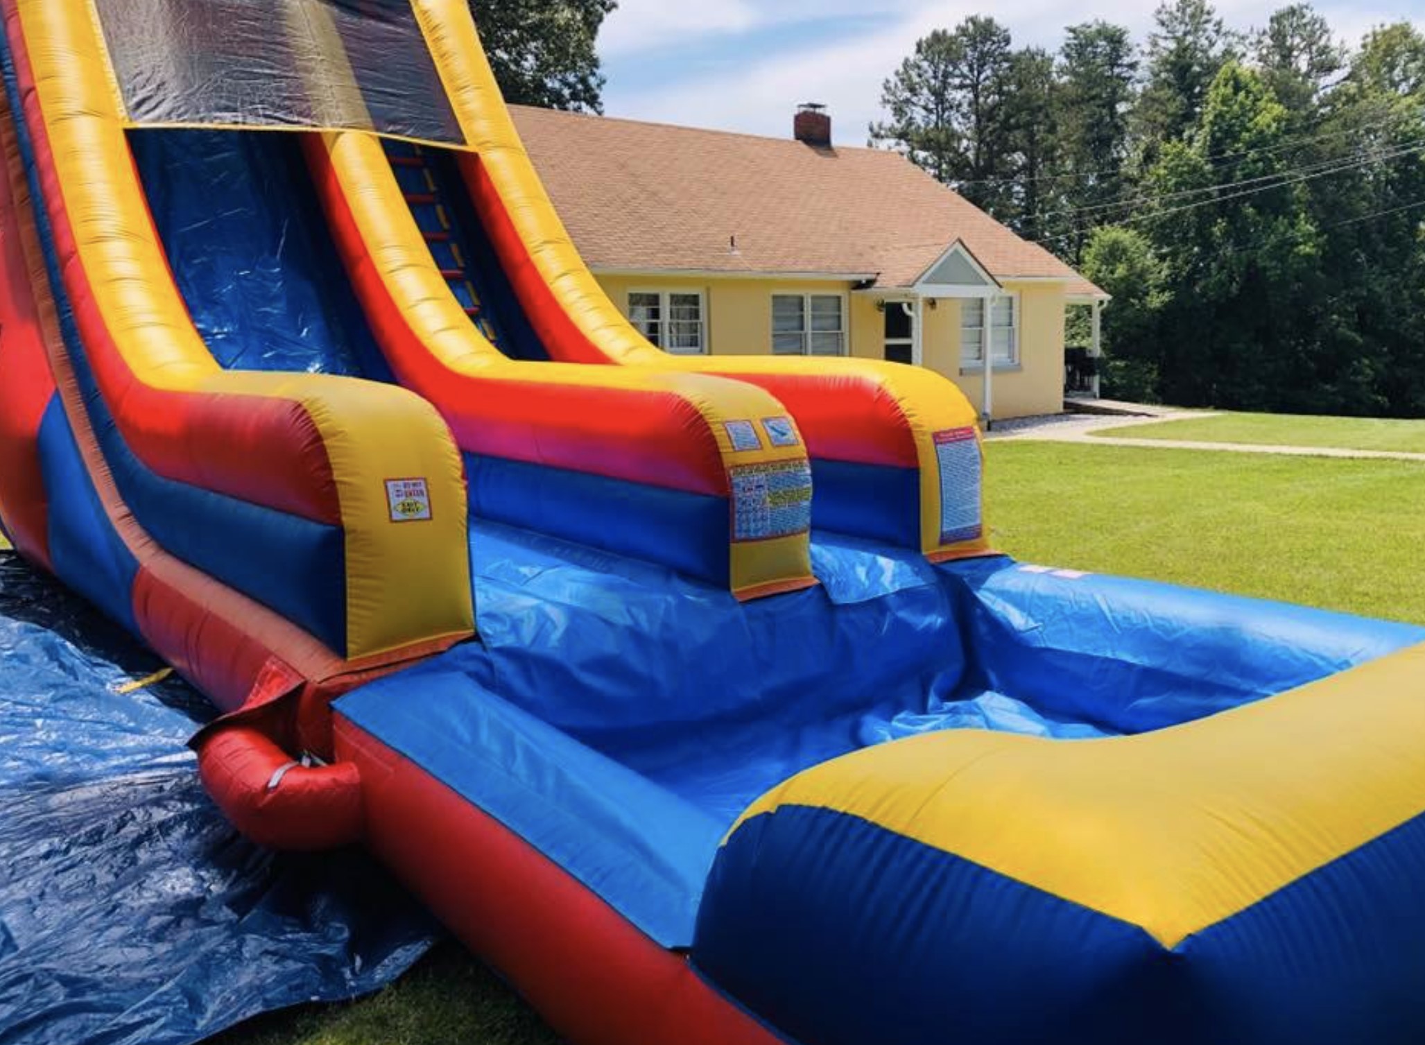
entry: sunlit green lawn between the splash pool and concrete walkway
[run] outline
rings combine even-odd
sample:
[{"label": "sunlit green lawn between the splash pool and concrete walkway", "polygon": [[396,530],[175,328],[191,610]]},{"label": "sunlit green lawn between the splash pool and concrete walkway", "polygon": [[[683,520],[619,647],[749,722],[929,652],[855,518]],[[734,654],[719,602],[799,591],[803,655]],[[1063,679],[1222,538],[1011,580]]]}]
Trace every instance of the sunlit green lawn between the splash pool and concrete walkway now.
[{"label": "sunlit green lawn between the splash pool and concrete walkway", "polygon": [[1020,559],[1425,624],[1422,463],[1006,442],[988,475]]}]

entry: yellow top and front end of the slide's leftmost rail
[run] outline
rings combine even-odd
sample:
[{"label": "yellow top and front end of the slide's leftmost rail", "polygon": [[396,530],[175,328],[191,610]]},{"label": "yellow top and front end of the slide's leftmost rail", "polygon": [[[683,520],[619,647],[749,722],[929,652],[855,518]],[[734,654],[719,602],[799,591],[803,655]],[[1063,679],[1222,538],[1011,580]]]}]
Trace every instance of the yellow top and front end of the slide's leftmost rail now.
[{"label": "yellow top and front end of the slide's leftmost rail", "polygon": [[[19,14],[78,262],[128,369],[164,391],[304,406],[322,435],[341,498],[348,659],[469,634],[475,610],[463,469],[445,422],[418,396],[383,385],[222,371],[168,274],[93,7],[88,0],[19,0]],[[429,486],[436,508],[429,522],[390,518],[386,480],[409,478]]]}]

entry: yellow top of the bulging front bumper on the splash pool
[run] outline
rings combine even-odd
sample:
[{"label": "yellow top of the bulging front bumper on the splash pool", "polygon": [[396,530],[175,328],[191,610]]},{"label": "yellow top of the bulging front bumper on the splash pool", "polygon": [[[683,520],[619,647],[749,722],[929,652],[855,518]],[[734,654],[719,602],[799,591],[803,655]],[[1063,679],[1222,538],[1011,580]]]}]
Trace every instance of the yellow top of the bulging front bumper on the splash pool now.
[{"label": "yellow top of the bulging front bumper on the splash pool", "polygon": [[916,737],[808,770],[738,825],[846,813],[1173,948],[1425,814],[1422,677],[1418,646],[1160,733]]}]

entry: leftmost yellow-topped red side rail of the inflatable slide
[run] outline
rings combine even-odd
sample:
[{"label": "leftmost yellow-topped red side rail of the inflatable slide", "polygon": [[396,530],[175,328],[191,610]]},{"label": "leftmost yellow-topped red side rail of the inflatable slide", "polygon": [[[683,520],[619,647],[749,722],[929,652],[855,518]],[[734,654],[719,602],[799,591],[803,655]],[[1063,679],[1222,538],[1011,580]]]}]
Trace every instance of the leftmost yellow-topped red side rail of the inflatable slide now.
[{"label": "leftmost yellow-topped red side rail of the inflatable slide", "polygon": [[[222,371],[168,272],[87,4],[7,0],[6,24],[66,297],[128,446],[168,479],[341,525],[348,660],[470,634],[462,465],[439,415],[366,382]],[[385,479],[410,476],[440,510],[393,525]]]}]

